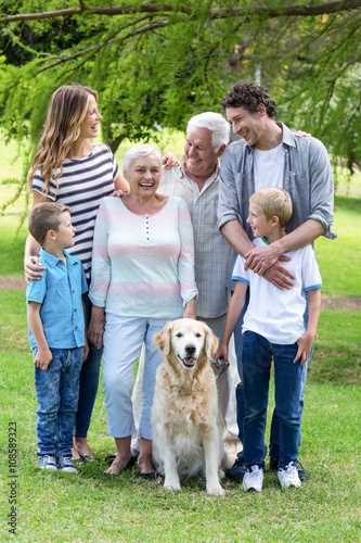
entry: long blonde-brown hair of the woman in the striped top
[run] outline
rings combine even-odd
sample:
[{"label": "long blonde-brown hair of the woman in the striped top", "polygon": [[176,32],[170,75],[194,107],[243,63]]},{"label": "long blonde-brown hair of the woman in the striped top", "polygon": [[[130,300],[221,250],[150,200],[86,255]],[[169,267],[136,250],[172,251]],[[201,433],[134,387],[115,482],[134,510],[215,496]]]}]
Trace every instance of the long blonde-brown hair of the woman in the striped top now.
[{"label": "long blonde-brown hair of the woman in the striped top", "polygon": [[90,96],[93,96],[98,103],[98,92],[78,84],[64,85],[52,94],[43,131],[28,175],[29,190],[37,169],[40,169],[44,180],[47,194],[50,180],[57,182],[62,177],[63,162],[80,136],[80,125],[88,113]]}]

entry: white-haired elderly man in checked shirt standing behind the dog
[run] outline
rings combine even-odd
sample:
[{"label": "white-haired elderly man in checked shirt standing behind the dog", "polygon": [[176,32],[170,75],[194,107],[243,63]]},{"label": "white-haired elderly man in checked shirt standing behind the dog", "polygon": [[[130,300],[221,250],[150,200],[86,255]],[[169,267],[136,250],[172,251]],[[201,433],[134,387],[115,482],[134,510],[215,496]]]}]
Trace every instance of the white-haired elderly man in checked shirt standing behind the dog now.
[{"label": "white-haired elderly man in checked shirt standing behind the dog", "polygon": [[[220,338],[225,324],[229,291],[225,287],[231,245],[217,227],[219,159],[229,142],[230,126],[212,112],[193,116],[186,126],[180,165],[164,172],[159,192],[181,197],[188,203],[195,245],[195,280],[198,288],[196,318]],[[136,383],[136,397],[141,379]],[[238,382],[233,342],[228,371],[217,379],[220,412],[225,422],[224,451],[232,458],[241,449],[236,422],[235,387]],[[137,404],[134,402],[136,418]],[[134,446],[134,442],[133,442]]]}]

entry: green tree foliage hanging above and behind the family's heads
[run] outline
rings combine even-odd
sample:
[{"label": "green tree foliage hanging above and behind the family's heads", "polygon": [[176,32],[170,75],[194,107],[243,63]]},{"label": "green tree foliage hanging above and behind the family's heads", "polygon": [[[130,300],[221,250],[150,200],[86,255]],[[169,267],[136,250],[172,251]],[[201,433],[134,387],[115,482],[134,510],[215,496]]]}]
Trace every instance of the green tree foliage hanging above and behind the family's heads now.
[{"label": "green tree foliage hanging above and behind the family's heads", "polygon": [[260,76],[281,118],[323,139],[334,156],[360,164],[361,2],[337,9],[306,0],[91,0],[82,12],[82,2],[61,4],[5,2],[3,16],[57,11],[0,20],[0,121],[8,138],[30,134],[34,143],[51,93],[65,83],[100,91],[104,139],[115,151],[126,137],[156,137],[158,125],[183,130],[191,115],[220,111],[231,84]]}]

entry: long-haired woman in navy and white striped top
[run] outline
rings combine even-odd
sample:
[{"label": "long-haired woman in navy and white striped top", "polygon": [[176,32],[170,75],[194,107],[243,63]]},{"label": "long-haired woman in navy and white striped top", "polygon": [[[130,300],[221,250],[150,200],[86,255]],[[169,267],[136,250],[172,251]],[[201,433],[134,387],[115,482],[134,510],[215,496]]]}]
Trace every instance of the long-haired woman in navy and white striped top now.
[{"label": "long-haired woman in navy and white striped top", "polygon": [[[48,116],[33,167],[28,187],[33,205],[54,201],[72,209],[76,227],[75,245],[68,252],[78,256],[90,281],[94,223],[100,202],[114,189],[129,190],[111,150],[96,138],[101,122],[98,93],[89,87],[65,85],[52,96]],[[39,262],[39,243],[28,236],[25,247],[27,281],[39,279],[44,269]],[[88,296],[87,301],[88,301]],[[90,303],[88,301],[88,317]],[[60,323],[61,327],[62,324]],[[89,356],[80,374],[78,413],[74,438],[74,457],[92,459],[87,434],[96,396],[102,349],[89,343]]]}]

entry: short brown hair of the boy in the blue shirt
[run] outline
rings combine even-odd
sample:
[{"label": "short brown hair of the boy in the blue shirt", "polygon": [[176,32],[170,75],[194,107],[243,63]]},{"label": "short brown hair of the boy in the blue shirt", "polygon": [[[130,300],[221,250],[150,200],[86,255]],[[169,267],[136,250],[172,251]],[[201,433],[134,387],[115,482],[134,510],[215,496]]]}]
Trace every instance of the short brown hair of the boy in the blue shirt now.
[{"label": "short brown hair of the boy in the blue shirt", "polygon": [[36,204],[28,216],[28,228],[33,238],[37,240],[40,245],[43,245],[47,233],[49,230],[59,230],[61,224],[61,215],[65,212],[70,213],[68,205],[60,204],[56,202],[42,202]]}]

